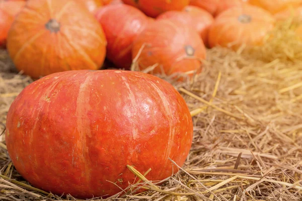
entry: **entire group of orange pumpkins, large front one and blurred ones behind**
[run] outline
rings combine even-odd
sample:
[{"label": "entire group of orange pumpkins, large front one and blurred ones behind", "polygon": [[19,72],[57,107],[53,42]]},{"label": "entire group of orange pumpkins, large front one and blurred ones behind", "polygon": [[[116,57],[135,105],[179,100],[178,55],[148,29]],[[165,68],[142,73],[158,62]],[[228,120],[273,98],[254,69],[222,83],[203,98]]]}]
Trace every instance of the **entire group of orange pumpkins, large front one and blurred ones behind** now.
[{"label": "entire group of orange pumpkins, large front one and blurred ones behind", "polygon": [[153,181],[171,176],[193,140],[184,98],[154,75],[97,70],[105,58],[190,76],[206,47],[261,45],[301,2],[0,0],[0,42],[17,69],[38,78],[8,111],[14,166],[32,185],[77,198],[136,190],[130,170]]}]

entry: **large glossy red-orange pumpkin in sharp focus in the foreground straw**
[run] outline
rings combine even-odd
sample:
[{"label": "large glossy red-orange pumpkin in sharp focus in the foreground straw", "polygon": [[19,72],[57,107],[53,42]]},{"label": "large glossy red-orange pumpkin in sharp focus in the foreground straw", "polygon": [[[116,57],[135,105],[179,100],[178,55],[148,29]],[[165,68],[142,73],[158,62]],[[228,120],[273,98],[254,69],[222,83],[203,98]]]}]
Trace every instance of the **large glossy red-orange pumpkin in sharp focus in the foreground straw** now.
[{"label": "large glossy red-orange pumpkin in sharp focus in the foreground straw", "polygon": [[[28,85],[7,115],[6,143],[32,185],[76,198],[111,196],[182,166],[193,123],[185,100],[156,76],[121,70],[53,73]],[[45,142],[45,143],[44,143]],[[43,171],[41,171],[43,170]],[[108,180],[108,181],[106,181]],[[136,178],[137,181],[137,178]]]}]

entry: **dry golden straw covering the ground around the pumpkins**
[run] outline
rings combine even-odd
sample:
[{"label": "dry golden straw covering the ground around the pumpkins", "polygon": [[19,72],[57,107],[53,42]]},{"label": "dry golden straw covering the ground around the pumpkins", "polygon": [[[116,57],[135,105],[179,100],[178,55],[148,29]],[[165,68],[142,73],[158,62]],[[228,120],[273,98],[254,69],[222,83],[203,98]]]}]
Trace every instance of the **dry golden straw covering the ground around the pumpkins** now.
[{"label": "dry golden straw covering the ground around the pumpkins", "polygon": [[[130,168],[150,190],[118,199],[302,200],[302,42],[291,27],[277,27],[261,48],[208,50],[201,75],[173,83],[194,120],[187,161],[162,186]],[[5,124],[13,99],[32,80],[12,70],[5,52],[0,65]],[[0,199],[74,200],[27,185],[13,169],[5,141],[0,145]]]}]

